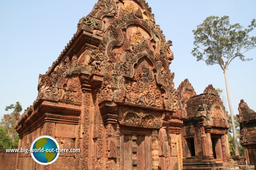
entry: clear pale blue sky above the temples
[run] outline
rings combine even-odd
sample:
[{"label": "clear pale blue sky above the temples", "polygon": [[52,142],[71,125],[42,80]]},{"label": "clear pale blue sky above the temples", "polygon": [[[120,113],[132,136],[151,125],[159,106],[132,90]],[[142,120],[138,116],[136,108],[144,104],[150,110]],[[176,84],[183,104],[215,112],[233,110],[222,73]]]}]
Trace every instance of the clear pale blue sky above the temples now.
[{"label": "clear pale blue sky above the temples", "polygon": [[[224,74],[220,66],[206,66],[196,62],[192,30],[211,15],[228,15],[232,24],[248,26],[256,18],[255,0],[148,0],[171,47],[174,60],[175,88],[188,78],[197,94],[212,84],[225,90]],[[97,0],[83,1],[0,1],[0,116],[5,106],[20,101],[23,111],[37,97],[39,74],[52,66],[68,41],[76,33],[80,18],[92,11]],[[254,30],[251,35],[256,36]],[[255,102],[256,49],[246,53],[254,58],[250,62],[232,61],[228,69],[228,82],[234,114],[238,114],[241,99],[253,110]],[[225,91],[226,93],[226,91]],[[228,102],[226,102],[228,109]]]}]

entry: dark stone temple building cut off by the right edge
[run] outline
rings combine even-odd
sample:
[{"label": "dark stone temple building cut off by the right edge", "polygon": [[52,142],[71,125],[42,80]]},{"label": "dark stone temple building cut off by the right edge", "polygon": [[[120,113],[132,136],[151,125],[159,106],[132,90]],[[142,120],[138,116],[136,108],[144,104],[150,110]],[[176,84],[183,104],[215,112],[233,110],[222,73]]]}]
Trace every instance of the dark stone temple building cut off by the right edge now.
[{"label": "dark stone temple building cut off by the right edge", "polygon": [[239,114],[240,144],[244,146],[248,165],[256,165],[256,112],[250,109],[244,100],[240,101]]}]

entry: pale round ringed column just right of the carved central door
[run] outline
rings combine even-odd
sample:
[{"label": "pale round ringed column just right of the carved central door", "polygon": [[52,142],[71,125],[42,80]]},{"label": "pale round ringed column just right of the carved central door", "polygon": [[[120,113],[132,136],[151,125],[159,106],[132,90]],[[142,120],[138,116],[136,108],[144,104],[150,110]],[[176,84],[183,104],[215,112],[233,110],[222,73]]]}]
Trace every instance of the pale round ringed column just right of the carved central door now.
[{"label": "pale round ringed column just right of the carved central door", "polygon": [[159,166],[157,134],[158,134],[157,129],[151,129],[151,151],[152,151],[152,169],[153,170],[158,170],[158,166]]}]

